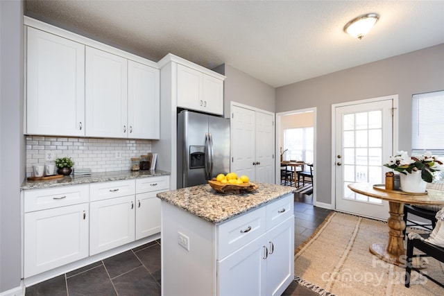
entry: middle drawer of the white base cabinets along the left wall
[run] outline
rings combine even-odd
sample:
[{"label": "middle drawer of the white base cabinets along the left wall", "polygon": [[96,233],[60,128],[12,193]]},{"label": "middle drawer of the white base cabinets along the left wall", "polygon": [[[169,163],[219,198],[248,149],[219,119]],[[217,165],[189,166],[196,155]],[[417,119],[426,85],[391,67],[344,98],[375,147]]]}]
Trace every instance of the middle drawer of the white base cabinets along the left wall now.
[{"label": "middle drawer of the white base cabinets along the left wall", "polygon": [[134,195],[135,181],[113,181],[102,182],[89,185],[90,200],[106,200],[108,198],[118,198],[120,196]]}]

